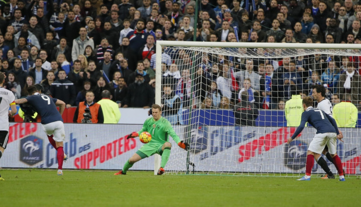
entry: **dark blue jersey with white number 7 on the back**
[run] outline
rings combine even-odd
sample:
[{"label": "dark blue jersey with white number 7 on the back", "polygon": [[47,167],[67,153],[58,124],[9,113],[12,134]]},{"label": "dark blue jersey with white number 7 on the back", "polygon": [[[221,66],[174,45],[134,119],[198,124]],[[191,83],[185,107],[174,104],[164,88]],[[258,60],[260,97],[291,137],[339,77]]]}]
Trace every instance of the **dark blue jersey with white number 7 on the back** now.
[{"label": "dark blue jersey with white number 7 on the back", "polygon": [[317,131],[316,134],[323,133],[336,133],[339,134],[337,124],[334,118],[326,114],[320,109],[309,107],[302,113],[301,124],[292,136],[292,139],[296,138],[305,128],[306,122],[309,122]]}]

